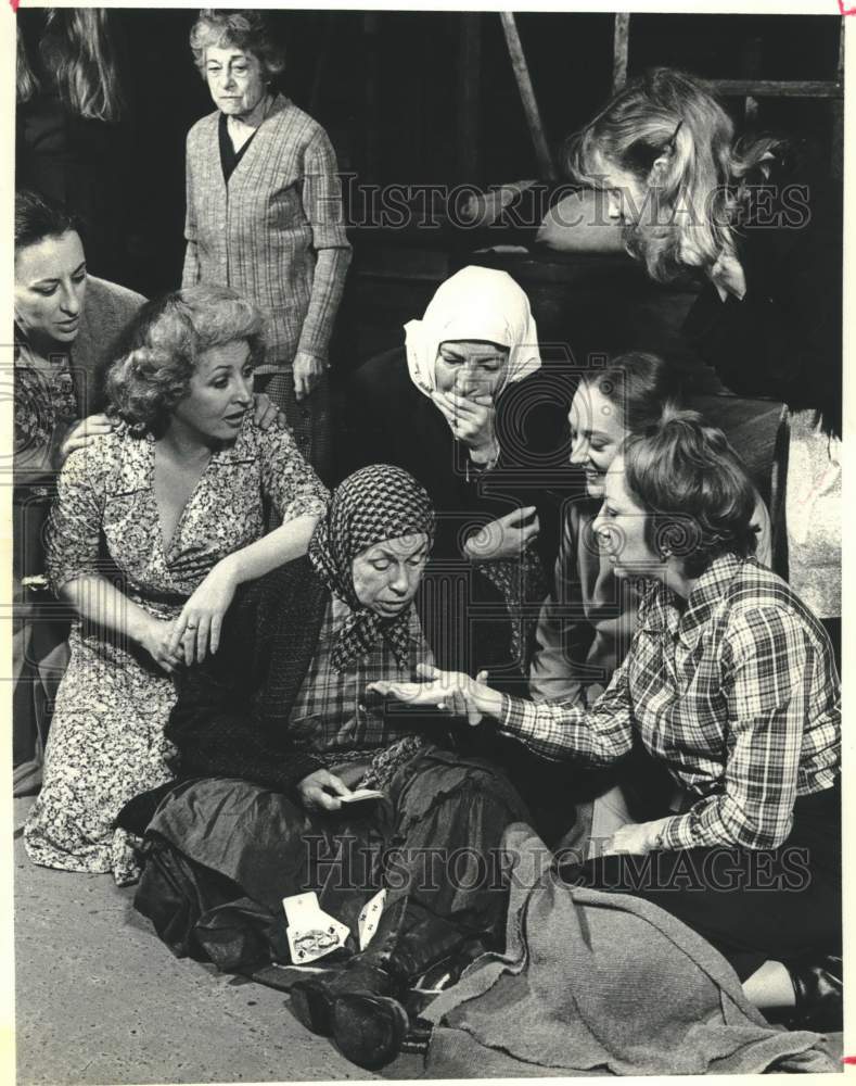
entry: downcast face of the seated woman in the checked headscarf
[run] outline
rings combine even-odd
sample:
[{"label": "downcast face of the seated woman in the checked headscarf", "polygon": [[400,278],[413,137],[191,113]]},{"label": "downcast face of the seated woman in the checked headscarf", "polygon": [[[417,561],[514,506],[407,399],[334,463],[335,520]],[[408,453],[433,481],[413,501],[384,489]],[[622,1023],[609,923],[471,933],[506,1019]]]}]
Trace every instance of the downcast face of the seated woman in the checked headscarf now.
[{"label": "downcast face of the seated woman in the checked headscarf", "polygon": [[429,555],[424,532],[398,535],[360,552],[352,565],[354,592],[363,607],[395,618],[417,594]]}]

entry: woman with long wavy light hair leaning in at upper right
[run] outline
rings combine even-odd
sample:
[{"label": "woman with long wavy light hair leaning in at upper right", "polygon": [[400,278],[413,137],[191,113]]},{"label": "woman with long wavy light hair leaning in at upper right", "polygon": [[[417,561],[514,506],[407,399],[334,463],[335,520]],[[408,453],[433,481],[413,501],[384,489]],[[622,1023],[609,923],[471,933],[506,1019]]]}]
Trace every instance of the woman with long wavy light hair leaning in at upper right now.
[{"label": "woman with long wavy light hair leaning in at upper right", "polygon": [[570,167],[653,278],[701,280],[685,332],[727,388],[788,404],[788,578],[840,652],[841,193],[804,157],[736,140],[702,80],[655,68],[573,139]]}]

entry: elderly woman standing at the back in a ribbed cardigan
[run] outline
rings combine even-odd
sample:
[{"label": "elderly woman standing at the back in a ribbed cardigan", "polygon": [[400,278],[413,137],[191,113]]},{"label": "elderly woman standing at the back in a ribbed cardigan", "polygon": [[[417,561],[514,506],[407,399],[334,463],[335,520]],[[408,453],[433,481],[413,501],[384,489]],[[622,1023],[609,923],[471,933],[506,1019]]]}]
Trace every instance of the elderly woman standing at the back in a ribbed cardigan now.
[{"label": "elderly woman standing at the back in a ribbed cardigan", "polygon": [[205,9],[190,45],[217,110],[188,135],[182,286],[228,285],[258,306],[268,342],[257,377],[309,462],[325,466],[328,346],[350,262],[335,153],[271,90],[284,56],[259,12]]}]

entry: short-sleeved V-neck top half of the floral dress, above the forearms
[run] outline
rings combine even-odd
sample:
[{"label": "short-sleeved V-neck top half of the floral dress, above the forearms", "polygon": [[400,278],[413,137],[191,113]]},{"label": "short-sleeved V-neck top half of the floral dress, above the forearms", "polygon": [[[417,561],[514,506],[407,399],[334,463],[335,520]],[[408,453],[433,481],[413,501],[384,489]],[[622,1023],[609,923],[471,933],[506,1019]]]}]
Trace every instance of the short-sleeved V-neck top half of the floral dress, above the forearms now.
[{"label": "short-sleeved V-neck top half of the floral dress, above the forearms", "polygon": [[327,491],[288,430],[263,431],[247,415],[234,443],[214,453],[168,544],[154,496],[151,434],[126,426],[73,453],[51,513],[48,569],[55,592],[104,569],[108,558],[131,598],[168,607],[183,601],[216,563],[265,534],[265,504],[283,522],[323,512]]}]

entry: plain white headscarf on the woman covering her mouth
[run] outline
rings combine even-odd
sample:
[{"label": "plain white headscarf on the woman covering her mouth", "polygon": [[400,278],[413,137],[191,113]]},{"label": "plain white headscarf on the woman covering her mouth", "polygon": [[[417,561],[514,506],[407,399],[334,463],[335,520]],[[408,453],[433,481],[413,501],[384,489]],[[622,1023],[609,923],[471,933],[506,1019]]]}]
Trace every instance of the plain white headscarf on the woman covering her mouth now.
[{"label": "plain white headscarf on the woman covering her mouth", "polygon": [[494,268],[461,268],[439,285],[424,317],[405,325],[410,379],[426,396],[437,388],[437,351],[447,340],[487,340],[507,346],[508,366],[499,391],[541,365],[529,300],[510,275]]}]

